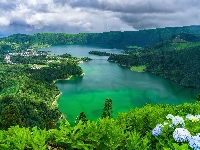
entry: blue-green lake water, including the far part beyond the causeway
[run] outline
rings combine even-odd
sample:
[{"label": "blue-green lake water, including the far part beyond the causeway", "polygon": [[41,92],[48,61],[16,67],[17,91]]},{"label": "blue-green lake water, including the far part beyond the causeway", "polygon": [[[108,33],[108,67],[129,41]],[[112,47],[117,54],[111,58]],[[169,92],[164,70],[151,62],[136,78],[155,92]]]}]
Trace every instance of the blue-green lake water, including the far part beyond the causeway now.
[{"label": "blue-green lake water, including the far part beyond the causeway", "polygon": [[59,109],[71,125],[82,111],[88,119],[98,119],[106,98],[113,100],[113,116],[116,117],[118,112],[145,104],[194,103],[200,93],[200,90],[182,87],[151,73],[132,72],[127,67],[103,60],[107,56],[88,54],[93,50],[109,53],[121,53],[122,50],[86,45],[58,45],[42,50],[51,51],[51,54],[69,53],[76,57],[88,56],[94,59],[80,64],[85,76],[56,82],[62,92]]}]

